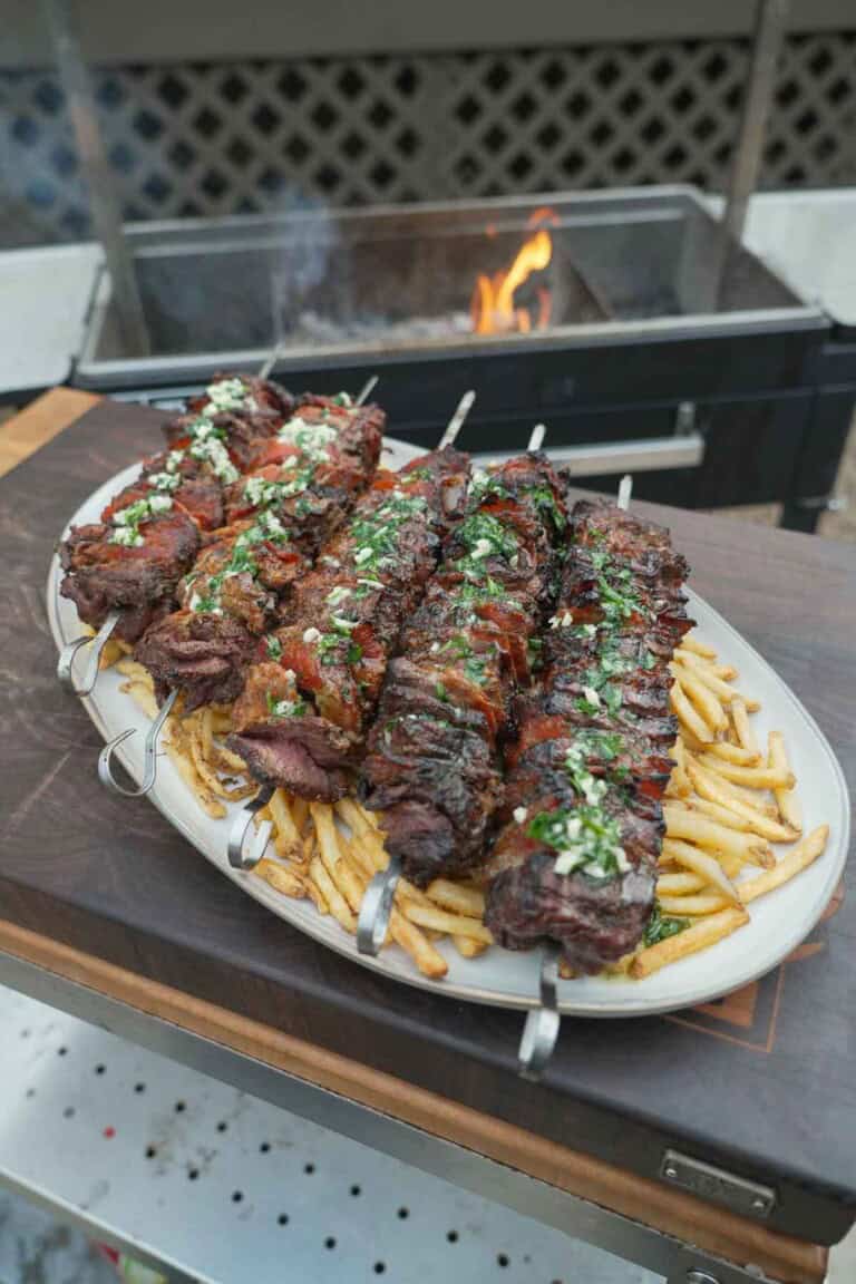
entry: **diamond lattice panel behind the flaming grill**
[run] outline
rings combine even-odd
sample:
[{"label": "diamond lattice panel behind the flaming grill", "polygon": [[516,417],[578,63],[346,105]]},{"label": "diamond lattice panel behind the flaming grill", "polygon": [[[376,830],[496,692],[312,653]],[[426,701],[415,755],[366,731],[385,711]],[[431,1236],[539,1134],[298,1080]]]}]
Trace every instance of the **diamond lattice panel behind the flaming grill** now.
[{"label": "diamond lattice panel behind the flaming grill", "polygon": [[[720,187],[743,40],[96,74],[126,217],[689,181]],[[53,72],[0,74],[0,240],[89,232]],[[765,186],[856,181],[856,35],[788,39]]]}]

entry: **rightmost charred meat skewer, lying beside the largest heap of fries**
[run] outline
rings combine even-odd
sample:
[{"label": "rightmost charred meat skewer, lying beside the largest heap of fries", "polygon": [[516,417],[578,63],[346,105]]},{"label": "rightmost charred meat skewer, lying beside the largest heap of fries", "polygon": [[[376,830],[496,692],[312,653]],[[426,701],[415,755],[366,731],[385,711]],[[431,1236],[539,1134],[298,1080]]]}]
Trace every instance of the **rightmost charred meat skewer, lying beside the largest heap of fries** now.
[{"label": "rightmost charred meat skewer, lying beside the largest heap of fries", "polygon": [[669,661],[692,627],[667,532],[578,503],[538,693],[517,702],[485,922],[507,949],[549,937],[598,972],[653,907],[676,722]]}]

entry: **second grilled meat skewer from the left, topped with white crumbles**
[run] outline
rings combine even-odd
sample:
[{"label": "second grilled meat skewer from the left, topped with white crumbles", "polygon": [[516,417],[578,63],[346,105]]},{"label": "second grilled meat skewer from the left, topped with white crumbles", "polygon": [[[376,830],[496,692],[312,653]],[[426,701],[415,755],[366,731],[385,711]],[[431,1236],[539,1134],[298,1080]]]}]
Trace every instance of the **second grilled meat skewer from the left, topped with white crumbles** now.
[{"label": "second grilled meat skewer from the left, topped with white crumbles", "polygon": [[345,402],[307,399],[276,437],[248,447],[255,457],[259,446],[277,449],[280,462],[227,488],[232,525],[209,537],[178,584],[180,610],[137,645],[158,700],[178,688],[191,710],[237,696],[281,594],[308,571],[375,473],[385,416]]}]

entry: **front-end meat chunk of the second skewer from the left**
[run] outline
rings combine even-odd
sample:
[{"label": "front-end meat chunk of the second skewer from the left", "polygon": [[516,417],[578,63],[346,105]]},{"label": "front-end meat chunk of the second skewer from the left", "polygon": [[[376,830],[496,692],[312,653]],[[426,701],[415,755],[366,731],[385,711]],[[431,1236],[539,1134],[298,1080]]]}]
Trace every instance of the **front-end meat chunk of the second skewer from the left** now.
[{"label": "front-end meat chunk of the second skewer from the left", "polygon": [[190,713],[235,700],[257,647],[257,639],[228,615],[173,611],[146,629],[133,657],[154,678],[158,702],[178,687]]}]

